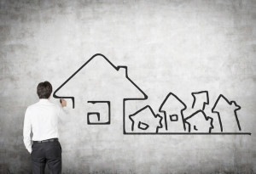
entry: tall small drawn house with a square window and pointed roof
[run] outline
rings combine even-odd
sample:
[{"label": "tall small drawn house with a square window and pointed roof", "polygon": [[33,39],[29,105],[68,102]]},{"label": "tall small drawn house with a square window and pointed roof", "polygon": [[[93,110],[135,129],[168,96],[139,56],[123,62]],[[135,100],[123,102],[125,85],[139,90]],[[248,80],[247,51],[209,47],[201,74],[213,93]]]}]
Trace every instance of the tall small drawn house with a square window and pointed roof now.
[{"label": "tall small drawn house with a square window and pointed roof", "polygon": [[[175,107],[175,105],[177,105],[177,107]],[[174,126],[175,130],[172,130],[172,132],[186,131],[186,126],[184,123],[184,116],[183,116],[183,111],[185,109],[187,109],[187,105],[184,104],[180,98],[177,98],[177,96],[174,93],[169,93],[166,96],[165,100],[160,105],[160,109],[159,109],[159,111],[161,113],[164,113],[165,115],[166,131],[172,128],[172,125],[175,125]],[[170,119],[167,119],[167,115],[170,116]],[[174,119],[173,117],[176,117],[176,116],[177,118]],[[168,126],[168,124],[170,126]]]}]

